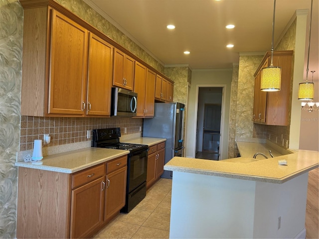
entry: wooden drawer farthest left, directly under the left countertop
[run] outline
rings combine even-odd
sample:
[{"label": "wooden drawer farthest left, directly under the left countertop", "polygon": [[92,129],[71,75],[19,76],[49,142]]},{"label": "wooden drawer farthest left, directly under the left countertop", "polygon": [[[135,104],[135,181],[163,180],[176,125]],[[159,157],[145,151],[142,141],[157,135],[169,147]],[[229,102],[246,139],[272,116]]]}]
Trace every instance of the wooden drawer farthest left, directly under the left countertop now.
[{"label": "wooden drawer farthest left, directly under the left countertop", "polygon": [[85,169],[72,175],[72,189],[80,185],[89,183],[99,177],[102,177],[105,172],[105,164],[99,164],[97,166]]}]

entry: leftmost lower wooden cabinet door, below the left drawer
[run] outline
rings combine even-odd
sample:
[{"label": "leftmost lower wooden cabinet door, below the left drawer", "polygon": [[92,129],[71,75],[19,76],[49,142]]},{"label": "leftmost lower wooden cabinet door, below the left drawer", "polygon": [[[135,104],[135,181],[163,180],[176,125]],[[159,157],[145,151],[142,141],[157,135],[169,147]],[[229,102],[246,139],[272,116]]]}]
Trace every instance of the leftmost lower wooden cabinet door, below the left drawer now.
[{"label": "leftmost lower wooden cabinet door, below the left drawer", "polygon": [[103,223],[103,182],[101,177],[72,190],[70,238],[86,238]]}]

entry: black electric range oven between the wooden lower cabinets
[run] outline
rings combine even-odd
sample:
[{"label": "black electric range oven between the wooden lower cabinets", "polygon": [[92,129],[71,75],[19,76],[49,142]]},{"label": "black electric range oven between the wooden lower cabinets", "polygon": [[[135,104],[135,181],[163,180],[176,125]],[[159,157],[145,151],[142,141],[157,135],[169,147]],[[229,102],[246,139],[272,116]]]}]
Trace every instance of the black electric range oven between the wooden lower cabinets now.
[{"label": "black electric range oven between the wooden lower cabinets", "polygon": [[146,177],[149,146],[121,143],[121,130],[116,128],[93,129],[92,147],[129,150],[126,184],[126,203],[121,212],[128,213],[146,196]]}]

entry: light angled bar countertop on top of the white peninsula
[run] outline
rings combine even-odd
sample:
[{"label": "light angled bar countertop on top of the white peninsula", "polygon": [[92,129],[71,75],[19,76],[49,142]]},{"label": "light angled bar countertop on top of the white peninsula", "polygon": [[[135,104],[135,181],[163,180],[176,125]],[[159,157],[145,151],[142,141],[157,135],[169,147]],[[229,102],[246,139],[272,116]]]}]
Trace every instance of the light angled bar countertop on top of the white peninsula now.
[{"label": "light angled bar countertop on top of the white peninsula", "polygon": [[[278,164],[278,160],[282,159],[287,160],[287,166]],[[269,183],[284,183],[318,167],[319,152],[310,150],[299,150],[296,153],[250,163],[173,157],[164,165],[164,169],[170,171]]]}]

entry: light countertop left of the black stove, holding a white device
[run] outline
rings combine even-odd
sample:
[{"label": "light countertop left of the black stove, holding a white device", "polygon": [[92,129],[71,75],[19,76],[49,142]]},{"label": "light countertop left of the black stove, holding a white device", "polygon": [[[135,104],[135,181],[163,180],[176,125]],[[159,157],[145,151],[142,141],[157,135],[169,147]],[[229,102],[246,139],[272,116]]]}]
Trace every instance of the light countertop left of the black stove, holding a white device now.
[{"label": "light countertop left of the black stove, holding a white device", "polygon": [[127,155],[130,151],[88,147],[65,153],[44,156],[34,163],[19,161],[15,166],[42,169],[61,173],[75,173],[85,168]]}]

